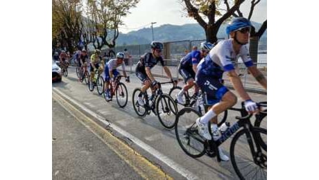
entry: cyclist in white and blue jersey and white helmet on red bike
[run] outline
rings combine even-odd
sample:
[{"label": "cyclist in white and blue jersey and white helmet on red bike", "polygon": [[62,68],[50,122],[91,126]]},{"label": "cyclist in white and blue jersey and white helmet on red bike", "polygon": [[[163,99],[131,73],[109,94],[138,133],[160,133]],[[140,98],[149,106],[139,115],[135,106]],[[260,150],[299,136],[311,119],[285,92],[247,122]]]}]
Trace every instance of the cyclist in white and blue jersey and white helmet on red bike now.
[{"label": "cyclist in white and blue jersey and white helmet on red bike", "polygon": [[[124,53],[117,53],[117,59],[112,59],[109,62],[105,64],[104,67],[104,89],[105,89],[105,97],[106,100],[111,100],[111,93],[110,89],[108,89],[108,85],[110,83],[110,80],[113,81],[117,78],[118,75],[120,75],[119,71],[117,71],[117,67],[122,66],[123,75],[126,76],[125,71],[125,65],[124,65]],[[126,82],[128,82],[128,78],[126,78]]]}]

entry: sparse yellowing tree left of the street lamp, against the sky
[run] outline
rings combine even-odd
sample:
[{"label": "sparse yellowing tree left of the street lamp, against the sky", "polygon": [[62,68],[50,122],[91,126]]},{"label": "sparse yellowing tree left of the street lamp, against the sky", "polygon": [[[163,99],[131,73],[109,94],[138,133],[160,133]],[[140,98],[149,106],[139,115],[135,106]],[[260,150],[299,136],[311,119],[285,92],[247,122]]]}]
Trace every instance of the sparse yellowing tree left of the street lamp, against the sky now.
[{"label": "sparse yellowing tree left of the street lamp, against the sky", "polygon": [[122,17],[128,15],[130,8],[136,7],[139,0],[88,0],[87,17],[90,19],[87,35],[92,38],[94,48],[103,46],[113,48],[119,36]]}]

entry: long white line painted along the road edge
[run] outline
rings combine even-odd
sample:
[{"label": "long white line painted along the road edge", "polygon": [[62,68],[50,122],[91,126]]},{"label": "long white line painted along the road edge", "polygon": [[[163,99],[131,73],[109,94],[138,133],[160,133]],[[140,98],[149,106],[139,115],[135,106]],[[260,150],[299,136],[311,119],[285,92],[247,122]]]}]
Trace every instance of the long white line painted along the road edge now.
[{"label": "long white line painted along the road edge", "polygon": [[70,98],[69,96],[67,96],[66,94],[62,93],[62,91],[60,91],[59,89],[56,89],[55,87],[53,87],[53,90],[58,92],[60,94],[60,96],[63,96],[64,98],[70,100],[72,103],[74,103],[74,105],[77,105],[78,107],[83,109],[83,111],[86,111],[91,116],[96,117],[98,120],[101,121],[101,123],[103,123],[105,125],[109,125],[110,127],[112,127],[112,129],[114,129],[115,131],[119,132],[119,134],[122,134],[123,136],[126,136],[127,138],[130,138],[130,140],[133,143],[135,143],[136,145],[138,145],[142,149],[146,150],[146,152],[152,154],[153,156],[155,156],[160,161],[166,163],[166,165],[169,165],[169,167],[171,167],[176,172],[180,173],[183,177],[186,177],[187,179],[199,179],[195,174],[193,174],[192,172],[189,172],[189,170],[183,168],[178,163],[175,163],[174,161],[169,159],[168,156],[165,156],[164,154],[162,154],[162,153],[158,152],[157,150],[155,150],[153,147],[150,147],[150,145],[147,145],[143,141],[139,140],[139,138],[136,138],[135,136],[132,136],[132,134],[129,134],[128,132],[126,132],[125,130],[121,129],[117,125],[105,122],[105,120],[103,120],[102,118],[99,118],[98,116],[96,116],[97,114],[94,113],[94,111],[91,111],[90,109],[87,109],[85,106],[83,106],[80,103],[76,102],[76,100],[74,100],[74,99]]}]

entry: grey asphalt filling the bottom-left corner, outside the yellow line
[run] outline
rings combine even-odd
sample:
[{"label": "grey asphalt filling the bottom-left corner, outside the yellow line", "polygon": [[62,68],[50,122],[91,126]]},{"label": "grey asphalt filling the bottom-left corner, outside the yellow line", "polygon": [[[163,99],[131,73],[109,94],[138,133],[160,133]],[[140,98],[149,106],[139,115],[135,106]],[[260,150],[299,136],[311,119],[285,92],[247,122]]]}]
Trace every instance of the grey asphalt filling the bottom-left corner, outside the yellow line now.
[{"label": "grey asphalt filling the bottom-left corner, outside the yellow line", "polygon": [[142,179],[52,99],[52,179]]}]

